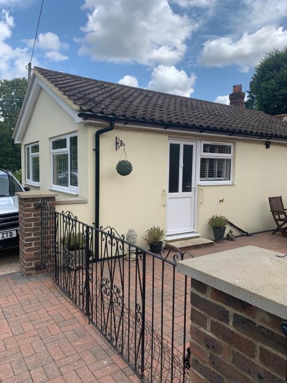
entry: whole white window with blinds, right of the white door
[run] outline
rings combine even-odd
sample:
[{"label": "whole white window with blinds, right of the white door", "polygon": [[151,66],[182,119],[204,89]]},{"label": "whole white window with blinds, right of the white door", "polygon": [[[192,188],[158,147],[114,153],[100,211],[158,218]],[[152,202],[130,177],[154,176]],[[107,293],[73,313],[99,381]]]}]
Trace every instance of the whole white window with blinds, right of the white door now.
[{"label": "whole white window with blinds, right of the white door", "polygon": [[200,185],[232,184],[233,144],[202,141]]}]

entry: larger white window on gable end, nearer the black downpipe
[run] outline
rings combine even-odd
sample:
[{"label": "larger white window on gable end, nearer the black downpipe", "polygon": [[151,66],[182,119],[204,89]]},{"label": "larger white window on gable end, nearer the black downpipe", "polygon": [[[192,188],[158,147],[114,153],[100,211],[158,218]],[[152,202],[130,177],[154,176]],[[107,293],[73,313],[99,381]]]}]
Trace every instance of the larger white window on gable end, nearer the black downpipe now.
[{"label": "larger white window on gable end, nearer the black downpipe", "polygon": [[52,188],[78,192],[78,136],[51,139]]}]

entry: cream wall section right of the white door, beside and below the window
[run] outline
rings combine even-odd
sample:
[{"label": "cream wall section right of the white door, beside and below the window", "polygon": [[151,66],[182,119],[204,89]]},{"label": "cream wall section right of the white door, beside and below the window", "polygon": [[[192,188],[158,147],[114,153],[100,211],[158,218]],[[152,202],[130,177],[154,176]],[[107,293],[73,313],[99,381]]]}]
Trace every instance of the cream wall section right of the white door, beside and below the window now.
[{"label": "cream wall section right of the white door, beside and below the window", "polygon": [[[286,162],[287,146],[272,143],[270,149],[266,149],[264,143],[237,141],[235,185],[198,187],[198,199],[203,200],[197,205],[198,232],[213,238],[212,229],[207,224],[213,214],[226,215],[231,222],[249,232],[274,228],[268,197],[282,195],[287,205]],[[219,202],[222,198],[223,203]]]}]

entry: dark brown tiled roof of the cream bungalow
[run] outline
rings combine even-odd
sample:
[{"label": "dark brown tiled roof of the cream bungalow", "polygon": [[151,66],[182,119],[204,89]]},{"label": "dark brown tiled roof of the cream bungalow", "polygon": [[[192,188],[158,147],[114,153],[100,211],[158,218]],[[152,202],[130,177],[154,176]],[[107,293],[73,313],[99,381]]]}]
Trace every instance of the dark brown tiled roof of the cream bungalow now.
[{"label": "dark brown tiled roof of the cream bungalow", "polygon": [[287,139],[287,124],[263,112],[35,67],[80,112]]}]

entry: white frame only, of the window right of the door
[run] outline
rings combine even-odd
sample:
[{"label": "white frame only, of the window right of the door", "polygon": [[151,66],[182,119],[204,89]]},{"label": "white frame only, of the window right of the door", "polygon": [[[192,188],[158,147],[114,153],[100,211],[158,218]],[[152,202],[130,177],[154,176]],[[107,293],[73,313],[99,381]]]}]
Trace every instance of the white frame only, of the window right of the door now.
[{"label": "white frame only, of the window right of the door", "polygon": [[[223,145],[223,146],[230,146],[231,147],[231,153],[204,153],[203,152],[203,145]],[[200,180],[200,164],[201,159],[207,158],[207,159],[228,159],[230,161],[230,179],[229,180]],[[232,142],[214,142],[214,141],[201,141],[200,142],[200,153],[199,153],[199,171],[198,171],[198,185],[232,185],[233,182],[233,164],[234,164],[234,143]]]}]

